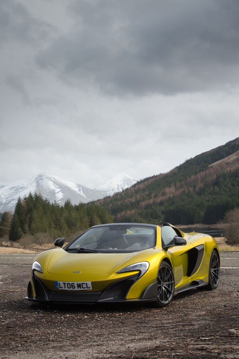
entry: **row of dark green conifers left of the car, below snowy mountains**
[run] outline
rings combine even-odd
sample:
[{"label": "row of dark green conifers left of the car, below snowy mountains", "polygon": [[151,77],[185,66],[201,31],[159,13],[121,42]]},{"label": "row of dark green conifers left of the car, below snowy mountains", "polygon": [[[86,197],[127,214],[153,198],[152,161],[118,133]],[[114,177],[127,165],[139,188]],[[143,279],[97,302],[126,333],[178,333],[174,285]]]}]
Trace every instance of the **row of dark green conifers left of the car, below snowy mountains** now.
[{"label": "row of dark green conifers left of the car, below snowy mountains", "polygon": [[105,208],[94,203],[73,205],[67,200],[63,206],[43,199],[35,193],[18,199],[14,214],[4,212],[0,222],[0,237],[9,236],[18,241],[24,235],[48,233],[49,237],[65,237],[70,240],[87,228],[112,223],[113,216]]}]

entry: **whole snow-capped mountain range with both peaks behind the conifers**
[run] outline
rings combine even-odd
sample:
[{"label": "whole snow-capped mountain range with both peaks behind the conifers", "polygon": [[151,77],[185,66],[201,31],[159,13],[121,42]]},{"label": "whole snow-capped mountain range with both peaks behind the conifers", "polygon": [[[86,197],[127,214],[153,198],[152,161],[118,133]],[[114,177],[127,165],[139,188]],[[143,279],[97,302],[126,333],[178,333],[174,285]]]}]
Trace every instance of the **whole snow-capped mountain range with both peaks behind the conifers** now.
[{"label": "whole snow-capped mountain range with both peaks behind the conifers", "polygon": [[[93,200],[101,199],[105,196],[122,191],[126,187],[132,186],[136,180],[130,181],[132,177],[127,174],[119,175],[119,183],[117,185],[115,176],[111,180],[104,183],[102,190],[95,188],[87,188],[71,181],[63,180],[62,178],[52,176],[47,173],[38,173],[31,178],[12,183],[8,186],[0,186],[0,212],[14,211],[18,198],[27,196],[30,192],[32,194],[41,193],[50,202],[56,201],[63,205],[67,199],[70,199],[72,204],[80,202],[87,203]],[[125,178],[125,181],[124,179]],[[126,181],[128,178],[128,182]],[[128,183],[128,185],[127,185]],[[126,187],[125,187],[126,186]]]}]

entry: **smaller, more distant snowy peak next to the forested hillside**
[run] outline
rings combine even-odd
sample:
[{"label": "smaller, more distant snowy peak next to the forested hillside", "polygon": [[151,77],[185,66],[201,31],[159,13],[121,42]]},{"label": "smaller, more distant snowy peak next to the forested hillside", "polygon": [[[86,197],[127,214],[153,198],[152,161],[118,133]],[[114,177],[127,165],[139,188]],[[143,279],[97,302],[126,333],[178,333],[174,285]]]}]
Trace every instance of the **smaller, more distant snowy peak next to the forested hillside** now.
[{"label": "smaller, more distant snowy peak next to the forested hillside", "polygon": [[110,178],[110,180],[95,188],[95,190],[103,192],[105,196],[112,196],[116,192],[121,192],[125,190],[125,188],[133,186],[136,182],[136,178],[130,177],[126,173],[119,173],[115,177]]}]

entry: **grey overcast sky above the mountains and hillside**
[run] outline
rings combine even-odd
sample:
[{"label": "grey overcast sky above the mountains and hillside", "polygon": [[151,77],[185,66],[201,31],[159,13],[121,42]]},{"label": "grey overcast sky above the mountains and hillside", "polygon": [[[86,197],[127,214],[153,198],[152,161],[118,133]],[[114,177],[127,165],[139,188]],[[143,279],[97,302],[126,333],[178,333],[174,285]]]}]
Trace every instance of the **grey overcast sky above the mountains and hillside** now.
[{"label": "grey overcast sky above the mountains and hillside", "polygon": [[238,0],[1,0],[0,185],[94,188],[239,137]]}]

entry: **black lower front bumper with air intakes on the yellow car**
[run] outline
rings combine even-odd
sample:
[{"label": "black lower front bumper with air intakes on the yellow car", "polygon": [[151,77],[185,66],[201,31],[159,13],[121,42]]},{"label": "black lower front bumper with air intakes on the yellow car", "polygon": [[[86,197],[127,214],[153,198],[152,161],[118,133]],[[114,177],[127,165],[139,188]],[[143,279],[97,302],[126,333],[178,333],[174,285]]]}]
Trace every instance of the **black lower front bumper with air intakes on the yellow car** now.
[{"label": "black lower front bumper with air intakes on the yellow car", "polygon": [[[105,302],[152,302],[157,300],[157,281],[148,285],[141,298],[126,299],[126,296],[138,275],[133,275],[109,285],[105,290],[98,292],[76,292],[64,290],[50,290],[32,272],[32,280],[29,281],[26,299],[36,302],[54,303],[105,303]],[[32,288],[32,285],[34,288]],[[33,289],[33,290],[32,290]],[[35,293],[33,297],[32,292]]]}]

